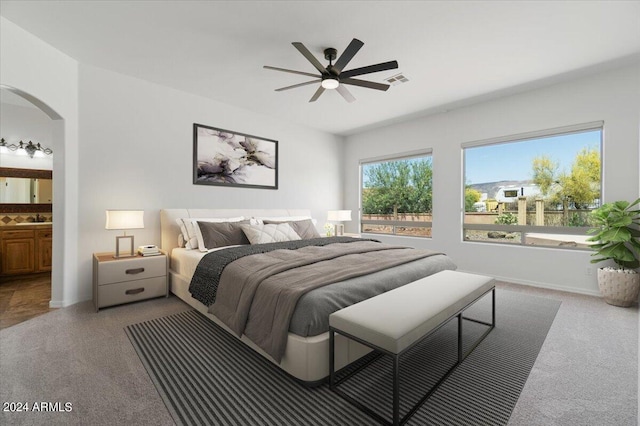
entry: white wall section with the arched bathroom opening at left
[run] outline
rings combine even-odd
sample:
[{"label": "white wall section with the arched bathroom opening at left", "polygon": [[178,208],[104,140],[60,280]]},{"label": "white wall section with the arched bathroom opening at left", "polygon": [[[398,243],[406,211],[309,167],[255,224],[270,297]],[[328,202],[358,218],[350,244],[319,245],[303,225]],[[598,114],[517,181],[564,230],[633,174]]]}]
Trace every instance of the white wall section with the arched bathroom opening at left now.
[{"label": "white wall section with the arched bathroom opening at left", "polygon": [[82,300],[78,261],[78,63],[0,17],[0,85],[56,118],[52,124],[54,193],[51,307]]}]

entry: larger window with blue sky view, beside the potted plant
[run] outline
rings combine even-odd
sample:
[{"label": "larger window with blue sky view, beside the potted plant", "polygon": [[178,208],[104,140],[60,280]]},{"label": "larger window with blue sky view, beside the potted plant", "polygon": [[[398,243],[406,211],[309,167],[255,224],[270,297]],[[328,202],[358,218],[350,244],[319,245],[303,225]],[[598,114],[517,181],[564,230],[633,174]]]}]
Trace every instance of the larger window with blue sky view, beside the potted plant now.
[{"label": "larger window with blue sky view, beside the potted plant", "polygon": [[465,241],[588,248],[602,123],[463,145]]}]

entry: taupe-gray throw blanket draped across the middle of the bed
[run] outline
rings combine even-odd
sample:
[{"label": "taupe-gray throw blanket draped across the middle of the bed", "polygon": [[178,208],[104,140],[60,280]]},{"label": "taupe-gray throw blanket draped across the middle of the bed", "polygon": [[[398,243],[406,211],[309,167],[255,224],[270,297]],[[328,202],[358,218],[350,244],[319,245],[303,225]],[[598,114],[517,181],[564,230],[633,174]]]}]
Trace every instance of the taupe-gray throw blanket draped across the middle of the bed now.
[{"label": "taupe-gray throw blanket draped across the middle of the bed", "polygon": [[286,348],[298,299],[328,284],[437,253],[373,241],[307,246],[242,257],[222,272],[213,313],[238,336],[245,334],[276,362]]}]

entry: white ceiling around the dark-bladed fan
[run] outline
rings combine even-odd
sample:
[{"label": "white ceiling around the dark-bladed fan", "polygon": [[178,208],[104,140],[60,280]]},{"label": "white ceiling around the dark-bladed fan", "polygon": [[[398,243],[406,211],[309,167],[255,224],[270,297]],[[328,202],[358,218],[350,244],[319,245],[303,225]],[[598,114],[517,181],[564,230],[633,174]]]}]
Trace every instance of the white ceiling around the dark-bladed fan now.
[{"label": "white ceiling around the dark-bladed fan", "polygon": [[[0,14],[77,59],[335,134],[450,109],[640,58],[640,1],[0,1]],[[316,85],[291,45],[365,44],[345,69],[410,81],[387,92]]]}]

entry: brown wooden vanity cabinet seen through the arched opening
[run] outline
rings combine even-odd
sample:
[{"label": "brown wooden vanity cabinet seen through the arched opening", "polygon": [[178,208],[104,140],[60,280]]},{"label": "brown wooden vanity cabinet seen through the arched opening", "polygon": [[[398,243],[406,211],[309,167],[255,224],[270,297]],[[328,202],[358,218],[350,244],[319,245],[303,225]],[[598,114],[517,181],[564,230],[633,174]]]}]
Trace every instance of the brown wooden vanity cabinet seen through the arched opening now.
[{"label": "brown wooden vanity cabinet seen through the arched opening", "polygon": [[0,228],[0,275],[33,274],[51,270],[51,225]]}]

